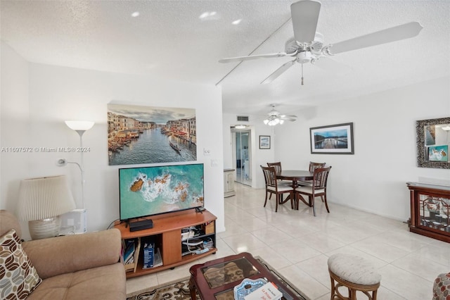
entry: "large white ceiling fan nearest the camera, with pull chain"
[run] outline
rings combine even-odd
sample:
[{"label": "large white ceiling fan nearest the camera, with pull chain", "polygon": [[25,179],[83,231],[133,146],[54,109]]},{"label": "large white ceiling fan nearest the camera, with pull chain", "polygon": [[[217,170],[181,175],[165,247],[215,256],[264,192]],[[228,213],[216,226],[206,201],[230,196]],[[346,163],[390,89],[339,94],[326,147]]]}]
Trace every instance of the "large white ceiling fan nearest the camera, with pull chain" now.
[{"label": "large white ceiling fan nearest the camera, with pull chain", "polygon": [[[422,25],[418,22],[406,23],[396,27],[390,27],[385,30],[354,37],[346,41],[338,42],[323,46],[323,35],[316,32],[317,23],[319,20],[319,12],[321,3],[318,1],[301,0],[290,6],[290,13],[293,22],[294,37],[288,39],[285,43],[285,52],[275,54],[258,54],[250,56],[238,56],[221,59],[220,63],[231,63],[236,61],[249,61],[257,58],[275,58],[291,56],[294,59],[281,65],[280,68],[271,73],[261,83],[270,83],[278,76],[283,74],[295,63],[302,64],[302,85],[303,85],[303,64],[315,64],[320,58],[326,56],[333,56],[346,51],[366,48],[369,46],[376,46],[379,44],[386,44],[390,42],[399,41],[401,39],[408,39],[416,37],[422,30]],[[325,65],[324,65],[325,67]]]}]

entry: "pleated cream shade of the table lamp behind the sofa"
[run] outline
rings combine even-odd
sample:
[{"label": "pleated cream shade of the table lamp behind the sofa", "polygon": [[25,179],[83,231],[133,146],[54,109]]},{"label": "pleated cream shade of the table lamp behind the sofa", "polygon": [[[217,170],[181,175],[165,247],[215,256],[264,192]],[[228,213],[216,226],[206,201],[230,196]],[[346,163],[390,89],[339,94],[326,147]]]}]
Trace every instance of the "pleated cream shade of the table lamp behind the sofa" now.
[{"label": "pleated cream shade of the table lamp behind the sofa", "polygon": [[18,219],[41,220],[75,209],[65,175],[41,177],[20,182]]}]

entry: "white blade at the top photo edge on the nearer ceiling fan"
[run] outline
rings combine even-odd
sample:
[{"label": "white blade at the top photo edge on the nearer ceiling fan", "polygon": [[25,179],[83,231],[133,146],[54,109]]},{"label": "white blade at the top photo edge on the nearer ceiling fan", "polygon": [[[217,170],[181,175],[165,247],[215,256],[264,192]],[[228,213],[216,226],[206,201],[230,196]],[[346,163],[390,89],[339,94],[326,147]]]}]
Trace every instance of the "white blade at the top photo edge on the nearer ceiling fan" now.
[{"label": "white blade at the top photo edge on the nearer ceiling fan", "polygon": [[309,43],[314,41],[320,11],[321,4],[316,1],[304,0],[290,5],[294,37],[297,42]]}]

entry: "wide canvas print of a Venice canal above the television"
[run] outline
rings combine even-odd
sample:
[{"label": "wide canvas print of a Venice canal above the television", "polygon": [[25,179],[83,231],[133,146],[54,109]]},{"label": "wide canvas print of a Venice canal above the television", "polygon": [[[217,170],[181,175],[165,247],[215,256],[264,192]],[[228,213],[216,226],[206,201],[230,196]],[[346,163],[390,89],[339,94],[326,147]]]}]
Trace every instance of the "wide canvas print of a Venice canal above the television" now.
[{"label": "wide canvas print of a Venice canal above the television", "polygon": [[109,165],[197,160],[195,109],[108,104]]}]

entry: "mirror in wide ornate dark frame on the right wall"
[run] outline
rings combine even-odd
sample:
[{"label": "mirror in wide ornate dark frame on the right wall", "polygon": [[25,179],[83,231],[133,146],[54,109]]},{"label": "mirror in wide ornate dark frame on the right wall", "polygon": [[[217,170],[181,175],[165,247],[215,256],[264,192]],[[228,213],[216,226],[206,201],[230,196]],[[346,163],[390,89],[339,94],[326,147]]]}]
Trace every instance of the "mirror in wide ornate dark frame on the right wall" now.
[{"label": "mirror in wide ornate dark frame on the right wall", "polygon": [[417,165],[449,169],[450,118],[416,121]]}]

